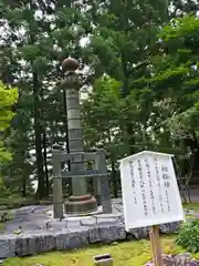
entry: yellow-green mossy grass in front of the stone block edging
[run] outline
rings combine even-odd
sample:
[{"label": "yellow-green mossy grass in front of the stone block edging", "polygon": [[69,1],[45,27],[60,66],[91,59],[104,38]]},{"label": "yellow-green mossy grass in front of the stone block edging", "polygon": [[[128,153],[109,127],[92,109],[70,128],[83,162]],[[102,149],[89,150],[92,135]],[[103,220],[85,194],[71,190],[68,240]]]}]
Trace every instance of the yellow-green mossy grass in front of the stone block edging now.
[{"label": "yellow-green mossy grass in front of the stone block edging", "polygon": [[[186,252],[174,242],[174,236],[163,237],[164,253],[179,254]],[[125,242],[116,245],[91,246],[73,252],[54,252],[25,258],[9,258],[3,266],[93,266],[93,256],[109,253],[114,258],[114,266],[142,266],[151,258],[149,241]],[[199,253],[193,255],[199,258]]]}]

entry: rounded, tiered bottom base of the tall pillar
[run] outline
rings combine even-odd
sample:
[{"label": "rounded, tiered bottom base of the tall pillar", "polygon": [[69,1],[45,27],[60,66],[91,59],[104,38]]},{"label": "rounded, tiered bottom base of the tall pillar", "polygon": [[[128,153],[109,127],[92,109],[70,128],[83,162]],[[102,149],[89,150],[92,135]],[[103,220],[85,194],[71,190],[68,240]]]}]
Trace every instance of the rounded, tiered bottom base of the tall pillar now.
[{"label": "rounded, tiered bottom base of the tall pillar", "polygon": [[83,196],[70,196],[64,203],[65,214],[86,215],[97,211],[96,198],[90,194]]}]

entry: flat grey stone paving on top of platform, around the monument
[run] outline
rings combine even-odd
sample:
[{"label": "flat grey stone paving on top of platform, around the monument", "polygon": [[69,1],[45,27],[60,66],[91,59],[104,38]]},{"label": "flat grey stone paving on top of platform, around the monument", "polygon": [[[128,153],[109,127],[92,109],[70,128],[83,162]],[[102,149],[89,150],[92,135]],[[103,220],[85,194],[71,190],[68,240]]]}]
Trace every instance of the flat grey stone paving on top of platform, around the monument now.
[{"label": "flat grey stone paving on top of platform, around the monument", "polygon": [[123,204],[121,198],[113,200],[113,215],[92,215],[86,217],[70,217],[65,216],[62,221],[53,218],[53,206],[28,206],[20,207],[13,211],[13,218],[6,224],[3,234],[13,233],[19,226],[22,232],[32,232],[35,229],[62,228],[62,227],[78,227],[80,225],[94,225],[96,223],[117,223],[123,216]]}]

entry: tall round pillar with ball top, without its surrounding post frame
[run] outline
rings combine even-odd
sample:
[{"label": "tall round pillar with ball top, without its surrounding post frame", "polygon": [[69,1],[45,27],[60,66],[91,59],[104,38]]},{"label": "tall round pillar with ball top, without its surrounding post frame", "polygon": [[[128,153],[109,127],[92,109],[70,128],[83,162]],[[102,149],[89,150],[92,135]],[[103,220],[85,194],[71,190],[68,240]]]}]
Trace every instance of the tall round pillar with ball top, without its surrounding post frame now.
[{"label": "tall round pillar with ball top, without its surrounding post frame", "polygon": [[[75,59],[67,58],[62,62],[62,70],[65,72],[65,79],[62,82],[66,90],[66,111],[67,111],[67,134],[70,153],[83,152],[83,137],[80,115],[78,90],[82,86],[80,75],[75,72],[78,69],[78,62]],[[81,157],[71,163],[72,171],[84,170],[84,162]],[[94,196],[87,194],[86,177],[72,178],[73,196],[65,202],[65,213],[90,213],[97,209],[97,202]]]}]

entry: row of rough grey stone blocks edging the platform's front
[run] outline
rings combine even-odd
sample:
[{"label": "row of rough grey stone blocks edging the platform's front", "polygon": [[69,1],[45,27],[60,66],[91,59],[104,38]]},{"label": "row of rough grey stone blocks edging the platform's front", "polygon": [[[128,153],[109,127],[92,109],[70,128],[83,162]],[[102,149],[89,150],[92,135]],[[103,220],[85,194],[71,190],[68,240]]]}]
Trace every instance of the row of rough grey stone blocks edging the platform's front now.
[{"label": "row of rough grey stone blocks edging the platform's front", "polygon": [[[167,227],[167,229],[166,229]],[[165,233],[178,228],[177,223],[167,224]],[[130,232],[135,238],[145,238],[148,228],[138,228]],[[128,233],[129,234],[129,233]],[[127,234],[124,224],[95,225],[61,228],[59,231],[34,231],[21,235],[4,234],[0,239],[0,259],[13,256],[27,256],[52,250],[82,248],[93,243],[112,243],[125,241]]]}]

